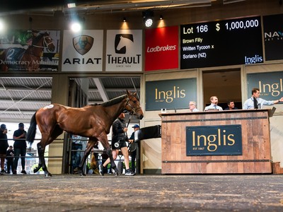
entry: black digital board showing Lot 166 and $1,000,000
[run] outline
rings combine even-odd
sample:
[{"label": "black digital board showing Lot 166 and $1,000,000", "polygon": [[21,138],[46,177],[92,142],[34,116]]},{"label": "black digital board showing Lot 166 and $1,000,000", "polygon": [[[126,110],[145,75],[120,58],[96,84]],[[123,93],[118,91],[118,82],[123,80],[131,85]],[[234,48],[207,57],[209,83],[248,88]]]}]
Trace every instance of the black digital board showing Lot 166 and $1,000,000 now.
[{"label": "black digital board showing Lot 166 and $1,000,000", "polygon": [[181,69],[262,62],[260,16],[180,25]]}]

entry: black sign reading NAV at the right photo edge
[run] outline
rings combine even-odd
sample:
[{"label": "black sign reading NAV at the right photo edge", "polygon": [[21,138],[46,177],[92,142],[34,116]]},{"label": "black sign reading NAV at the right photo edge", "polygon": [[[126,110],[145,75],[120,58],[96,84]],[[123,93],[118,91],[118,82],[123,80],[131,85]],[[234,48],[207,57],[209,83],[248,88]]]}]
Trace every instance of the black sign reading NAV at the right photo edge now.
[{"label": "black sign reading NAV at the right photo edge", "polygon": [[263,16],[265,60],[283,59],[283,14]]}]

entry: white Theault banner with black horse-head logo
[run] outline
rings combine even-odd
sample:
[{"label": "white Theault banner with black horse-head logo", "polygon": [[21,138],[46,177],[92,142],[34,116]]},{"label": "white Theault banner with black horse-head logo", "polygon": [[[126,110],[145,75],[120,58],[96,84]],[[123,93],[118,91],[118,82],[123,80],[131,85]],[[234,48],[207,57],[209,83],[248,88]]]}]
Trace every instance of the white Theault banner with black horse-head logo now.
[{"label": "white Theault banner with black horse-head logo", "polygon": [[142,30],[107,30],[106,71],[141,71]]}]

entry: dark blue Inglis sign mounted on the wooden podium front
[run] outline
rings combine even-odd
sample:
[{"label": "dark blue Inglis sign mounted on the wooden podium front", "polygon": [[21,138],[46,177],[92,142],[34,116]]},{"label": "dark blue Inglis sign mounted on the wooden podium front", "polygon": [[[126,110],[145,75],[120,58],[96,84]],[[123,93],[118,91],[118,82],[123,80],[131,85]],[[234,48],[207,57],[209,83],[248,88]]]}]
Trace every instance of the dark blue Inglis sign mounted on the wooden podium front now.
[{"label": "dark blue Inglis sign mounted on the wooden podium front", "polygon": [[241,124],[187,126],[187,156],[242,155]]}]

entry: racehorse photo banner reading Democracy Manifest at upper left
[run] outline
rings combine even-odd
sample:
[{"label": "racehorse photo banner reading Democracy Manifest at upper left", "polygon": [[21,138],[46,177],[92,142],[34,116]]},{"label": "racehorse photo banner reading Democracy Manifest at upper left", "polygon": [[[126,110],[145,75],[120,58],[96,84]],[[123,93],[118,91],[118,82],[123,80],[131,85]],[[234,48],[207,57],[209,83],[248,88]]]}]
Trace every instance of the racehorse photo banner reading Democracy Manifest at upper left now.
[{"label": "racehorse photo banner reading Democracy Manifest at upper left", "polygon": [[0,37],[1,71],[58,71],[59,30],[11,30]]}]

